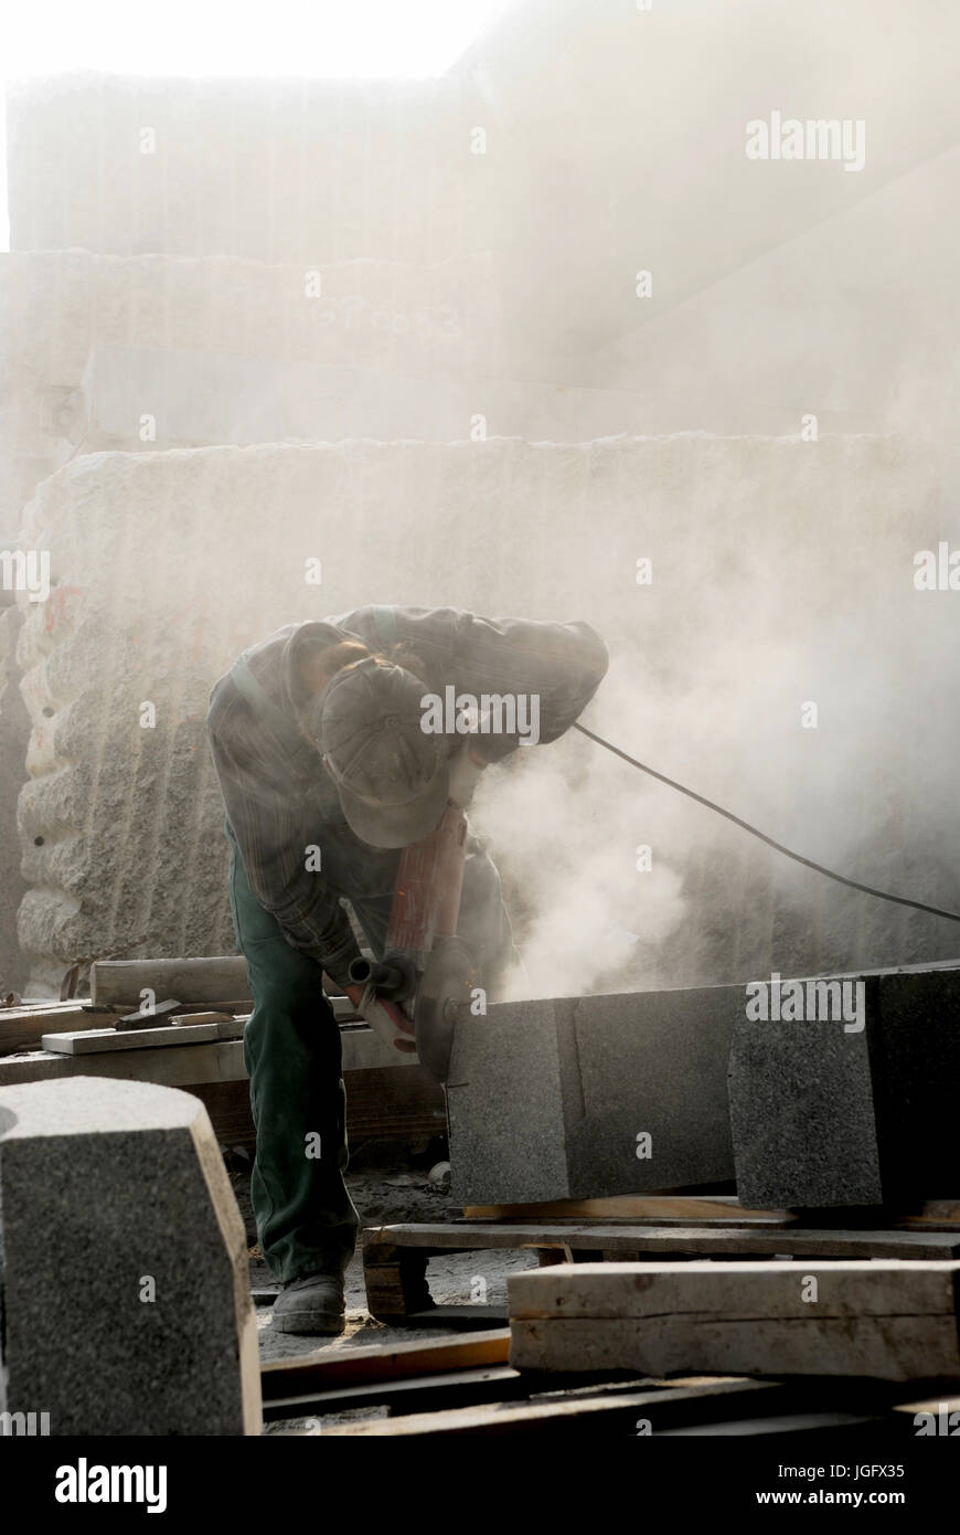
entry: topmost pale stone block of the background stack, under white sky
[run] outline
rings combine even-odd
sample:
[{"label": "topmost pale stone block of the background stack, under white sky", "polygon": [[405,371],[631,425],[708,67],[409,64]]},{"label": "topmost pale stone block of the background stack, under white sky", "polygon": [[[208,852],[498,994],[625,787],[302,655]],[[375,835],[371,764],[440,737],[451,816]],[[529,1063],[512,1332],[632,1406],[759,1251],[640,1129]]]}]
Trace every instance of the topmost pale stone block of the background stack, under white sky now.
[{"label": "topmost pale stone block of the background stack, under white sky", "polygon": [[305,264],[483,249],[475,112],[472,92],[442,80],[25,83],[11,104],[12,246]]}]

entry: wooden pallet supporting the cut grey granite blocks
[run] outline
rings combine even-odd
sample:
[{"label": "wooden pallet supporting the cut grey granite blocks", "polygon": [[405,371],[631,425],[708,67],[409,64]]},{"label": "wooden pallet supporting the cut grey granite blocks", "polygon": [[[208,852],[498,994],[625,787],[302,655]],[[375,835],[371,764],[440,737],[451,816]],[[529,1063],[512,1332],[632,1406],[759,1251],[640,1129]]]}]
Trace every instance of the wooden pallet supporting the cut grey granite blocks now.
[{"label": "wooden pallet supporting the cut grey granite blocks", "polygon": [[840,1230],[778,1225],[767,1220],[732,1225],[656,1225],[636,1222],[497,1220],[374,1226],[363,1233],[367,1306],[377,1320],[399,1325],[431,1320],[488,1325],[506,1320],[492,1306],[434,1306],[426,1282],[431,1257],[451,1253],[515,1249],[537,1253],[541,1263],[641,1262],[644,1259],[957,1259],[960,1230]]}]

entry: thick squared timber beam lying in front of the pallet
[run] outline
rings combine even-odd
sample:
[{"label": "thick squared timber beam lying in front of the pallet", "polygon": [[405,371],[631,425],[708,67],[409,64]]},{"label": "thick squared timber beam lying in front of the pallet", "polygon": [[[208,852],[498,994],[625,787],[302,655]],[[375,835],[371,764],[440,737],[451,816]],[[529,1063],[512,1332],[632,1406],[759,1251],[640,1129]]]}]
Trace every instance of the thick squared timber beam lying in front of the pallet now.
[{"label": "thick squared timber beam lying in front of the pallet", "polygon": [[960,1377],[958,1263],[598,1263],[514,1274],[515,1369]]}]

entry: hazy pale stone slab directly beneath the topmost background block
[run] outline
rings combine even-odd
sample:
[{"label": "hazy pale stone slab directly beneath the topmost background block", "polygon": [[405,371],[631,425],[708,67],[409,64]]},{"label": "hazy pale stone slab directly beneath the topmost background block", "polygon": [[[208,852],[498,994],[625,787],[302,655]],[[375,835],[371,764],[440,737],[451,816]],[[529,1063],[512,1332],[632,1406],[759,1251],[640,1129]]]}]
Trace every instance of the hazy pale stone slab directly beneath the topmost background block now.
[{"label": "hazy pale stone slab directly beneath the topmost background block", "polygon": [[267,264],[14,252],[0,315],[11,530],[37,482],[77,451],[455,439],[472,413],[497,414],[477,384],[501,373],[489,255]]}]

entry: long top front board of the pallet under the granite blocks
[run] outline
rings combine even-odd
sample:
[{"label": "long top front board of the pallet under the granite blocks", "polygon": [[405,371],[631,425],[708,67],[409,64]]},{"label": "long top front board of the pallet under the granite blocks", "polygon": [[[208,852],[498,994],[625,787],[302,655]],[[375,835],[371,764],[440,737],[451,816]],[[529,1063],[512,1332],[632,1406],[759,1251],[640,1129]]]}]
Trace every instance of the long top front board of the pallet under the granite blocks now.
[{"label": "long top front board of the pallet under the granite blocks", "polygon": [[960,1257],[960,1231],[843,1231],[764,1225],[745,1226],[647,1226],[584,1225],[551,1222],[449,1222],[371,1226],[363,1245],[425,1248],[434,1253],[486,1248],[560,1248],[587,1253],[636,1253],[646,1256],[689,1253],[701,1257],[822,1257],[822,1259],[952,1259]]}]

